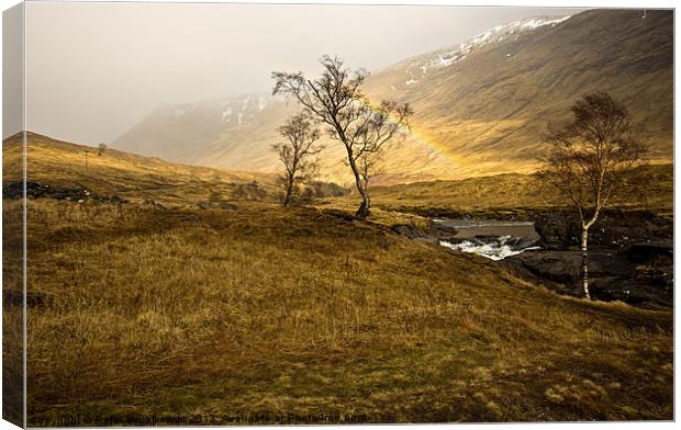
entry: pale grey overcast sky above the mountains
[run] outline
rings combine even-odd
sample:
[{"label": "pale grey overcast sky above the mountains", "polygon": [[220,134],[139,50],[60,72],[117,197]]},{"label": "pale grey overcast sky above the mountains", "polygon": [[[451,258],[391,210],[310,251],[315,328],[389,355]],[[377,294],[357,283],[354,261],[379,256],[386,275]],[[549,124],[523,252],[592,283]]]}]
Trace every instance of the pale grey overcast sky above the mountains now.
[{"label": "pale grey overcast sky above the mountains", "polygon": [[314,73],[326,53],[377,70],[509,21],[576,12],[29,2],[27,128],[75,143],[109,143],[159,104],[268,93],[272,70]]}]

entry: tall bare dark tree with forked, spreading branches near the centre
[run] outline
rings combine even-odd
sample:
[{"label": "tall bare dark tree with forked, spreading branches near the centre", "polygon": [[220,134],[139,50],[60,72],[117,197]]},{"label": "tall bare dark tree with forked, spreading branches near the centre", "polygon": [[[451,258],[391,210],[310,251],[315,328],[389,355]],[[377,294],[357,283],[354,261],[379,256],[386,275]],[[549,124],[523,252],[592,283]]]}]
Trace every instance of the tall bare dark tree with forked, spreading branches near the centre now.
[{"label": "tall bare dark tree with forked, spreading branches near the centre", "polygon": [[413,111],[409,103],[395,101],[371,105],[360,90],[368,77],[366,70],[350,70],[337,57],[324,56],[320,63],[322,75],[315,80],[305,78],[302,72],[273,72],[272,93],[295,98],[311,117],[326,125],[331,138],[345,146],[361,195],[357,216],[366,217],[371,203],[358,160],[365,154],[380,151],[387,142],[409,128]]}]

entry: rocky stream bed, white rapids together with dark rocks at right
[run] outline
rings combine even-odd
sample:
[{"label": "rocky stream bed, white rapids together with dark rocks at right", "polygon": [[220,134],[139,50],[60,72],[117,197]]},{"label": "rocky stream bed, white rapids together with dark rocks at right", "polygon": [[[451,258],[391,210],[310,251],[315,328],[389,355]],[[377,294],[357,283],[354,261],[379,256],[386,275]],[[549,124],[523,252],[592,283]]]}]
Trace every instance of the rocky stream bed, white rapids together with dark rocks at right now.
[{"label": "rocky stream bed, white rapids together with dark rocks at right", "polygon": [[[496,261],[520,278],[581,297],[580,224],[569,211],[537,211],[525,219],[434,217],[428,231],[393,230],[455,252]],[[495,215],[496,216],[496,215]],[[647,308],[673,306],[673,222],[651,211],[609,211],[592,227],[590,290],[600,301]]]}]

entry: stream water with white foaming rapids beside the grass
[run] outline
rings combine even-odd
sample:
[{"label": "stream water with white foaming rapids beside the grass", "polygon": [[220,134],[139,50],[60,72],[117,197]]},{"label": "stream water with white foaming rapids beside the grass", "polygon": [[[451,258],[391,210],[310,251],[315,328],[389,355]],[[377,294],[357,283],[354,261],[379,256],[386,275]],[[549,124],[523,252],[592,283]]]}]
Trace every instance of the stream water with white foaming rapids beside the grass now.
[{"label": "stream water with white foaming rapids beside the grass", "polygon": [[454,228],[456,234],[439,245],[461,252],[472,252],[502,260],[531,249],[539,249],[539,235],[532,222],[496,219],[433,219],[436,225]]}]

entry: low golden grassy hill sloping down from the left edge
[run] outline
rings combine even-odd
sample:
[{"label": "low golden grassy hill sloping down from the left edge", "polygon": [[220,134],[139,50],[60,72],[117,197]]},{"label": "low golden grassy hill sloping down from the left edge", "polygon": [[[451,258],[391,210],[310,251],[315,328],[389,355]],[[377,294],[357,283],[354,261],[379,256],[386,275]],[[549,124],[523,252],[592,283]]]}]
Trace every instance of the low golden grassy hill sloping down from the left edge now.
[{"label": "low golden grassy hill sloping down from the left edge", "polygon": [[[212,193],[228,197],[236,186],[253,181],[268,190],[272,199],[276,193],[272,174],[178,165],[111,148],[99,156],[97,148],[30,132],[26,147],[26,180],[53,186],[80,185],[98,194],[132,201],[152,199],[177,203],[205,201]],[[3,140],[3,184],[22,180],[22,150],[21,134]]]}]

